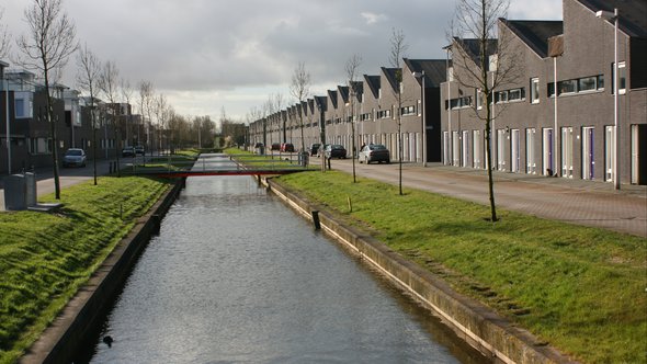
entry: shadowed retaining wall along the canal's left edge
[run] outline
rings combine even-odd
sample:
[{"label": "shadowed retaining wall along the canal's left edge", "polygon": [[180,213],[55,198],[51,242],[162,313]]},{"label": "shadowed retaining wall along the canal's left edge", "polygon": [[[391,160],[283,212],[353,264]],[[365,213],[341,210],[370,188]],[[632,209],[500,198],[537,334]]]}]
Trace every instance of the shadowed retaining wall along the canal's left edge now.
[{"label": "shadowed retaining wall along the canal's left edge", "polygon": [[70,363],[89,332],[97,326],[114,296],[123,287],[130,268],[148,244],[150,237],[159,232],[160,221],[169,211],[184,180],[178,180],[135,223],[128,236],[117,243],[103,264],[67,304],[55,321],[21,357],[20,363]]}]

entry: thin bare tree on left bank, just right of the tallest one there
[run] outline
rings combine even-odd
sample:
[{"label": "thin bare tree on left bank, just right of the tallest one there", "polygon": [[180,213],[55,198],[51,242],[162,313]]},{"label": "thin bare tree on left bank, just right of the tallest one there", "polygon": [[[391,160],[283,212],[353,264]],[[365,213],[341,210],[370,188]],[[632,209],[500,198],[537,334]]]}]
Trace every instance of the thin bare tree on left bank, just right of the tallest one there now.
[{"label": "thin bare tree on left bank, just right of the tallest one there", "polygon": [[88,48],[88,45],[80,47],[77,55],[77,65],[79,72],[77,73],[77,86],[81,91],[84,91],[89,96],[90,103],[90,124],[92,125],[92,172],[94,177],[94,185],[97,185],[97,105],[95,98],[98,92],[99,77],[101,75],[101,62],[94,54]]}]

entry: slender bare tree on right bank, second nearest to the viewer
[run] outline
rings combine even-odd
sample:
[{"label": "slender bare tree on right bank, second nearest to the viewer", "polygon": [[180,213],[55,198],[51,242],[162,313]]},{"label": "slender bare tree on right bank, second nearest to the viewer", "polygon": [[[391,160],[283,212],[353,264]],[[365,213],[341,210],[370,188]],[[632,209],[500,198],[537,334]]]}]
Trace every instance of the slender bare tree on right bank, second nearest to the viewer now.
[{"label": "slender bare tree on right bank, second nearest to the viewer", "polygon": [[405,57],[405,53],[409,48],[409,45],[406,43],[405,33],[401,30],[393,30],[393,34],[390,37],[390,53],[388,56],[388,62],[390,67],[396,68],[396,101],[398,103],[398,107],[396,110],[396,117],[398,122],[398,185],[399,185],[399,193],[402,195],[402,68],[400,67],[400,61],[402,57]]}]

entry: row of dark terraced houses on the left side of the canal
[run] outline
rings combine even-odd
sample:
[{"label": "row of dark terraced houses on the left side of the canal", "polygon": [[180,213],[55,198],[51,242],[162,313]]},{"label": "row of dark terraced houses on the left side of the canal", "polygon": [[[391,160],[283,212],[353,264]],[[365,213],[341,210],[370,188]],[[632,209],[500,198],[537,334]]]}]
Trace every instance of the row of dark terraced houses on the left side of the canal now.
[{"label": "row of dark terraced houses on the left side of the canal", "polygon": [[79,91],[57,83],[50,91],[57,134],[54,145],[45,117],[44,87],[34,73],[11,70],[9,66],[0,60],[0,174],[50,167],[54,148],[59,159],[68,148],[84,149],[89,158],[97,155],[98,159],[110,159],[121,152],[122,146],[145,145],[152,149],[163,137],[156,125],[133,114],[129,104],[99,99],[91,104]]}]

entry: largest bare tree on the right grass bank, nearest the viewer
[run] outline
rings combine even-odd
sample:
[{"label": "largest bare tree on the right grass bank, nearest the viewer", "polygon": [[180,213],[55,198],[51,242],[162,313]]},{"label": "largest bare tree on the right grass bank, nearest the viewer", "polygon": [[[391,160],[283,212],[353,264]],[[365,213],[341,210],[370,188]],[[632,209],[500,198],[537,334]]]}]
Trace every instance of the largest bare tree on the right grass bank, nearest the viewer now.
[{"label": "largest bare tree on the right grass bank, nearest the viewer", "polygon": [[[509,0],[461,0],[452,25],[452,67],[454,79],[463,87],[476,89],[484,100],[485,112],[473,107],[485,122],[486,159],[490,198],[490,218],[496,221],[495,187],[491,157],[491,122],[495,90],[518,78],[515,55],[503,34],[497,37],[499,18],[506,18]],[[474,46],[473,46],[474,45]],[[477,49],[476,52],[472,49]],[[476,53],[476,54],[475,54]],[[449,81],[449,80],[447,80]],[[477,95],[478,96],[478,95]]]}]

